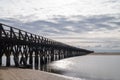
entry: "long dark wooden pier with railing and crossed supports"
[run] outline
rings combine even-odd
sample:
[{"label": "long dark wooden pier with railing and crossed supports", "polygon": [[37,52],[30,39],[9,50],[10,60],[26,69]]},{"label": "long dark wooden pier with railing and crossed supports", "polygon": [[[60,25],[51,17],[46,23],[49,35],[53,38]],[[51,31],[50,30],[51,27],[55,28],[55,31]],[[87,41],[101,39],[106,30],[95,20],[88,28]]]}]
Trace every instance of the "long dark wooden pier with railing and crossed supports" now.
[{"label": "long dark wooden pier with railing and crossed supports", "polygon": [[2,66],[3,55],[6,56],[6,66],[11,66],[10,56],[13,55],[16,67],[32,67],[33,57],[37,67],[48,62],[92,52],[0,23],[0,66]]}]

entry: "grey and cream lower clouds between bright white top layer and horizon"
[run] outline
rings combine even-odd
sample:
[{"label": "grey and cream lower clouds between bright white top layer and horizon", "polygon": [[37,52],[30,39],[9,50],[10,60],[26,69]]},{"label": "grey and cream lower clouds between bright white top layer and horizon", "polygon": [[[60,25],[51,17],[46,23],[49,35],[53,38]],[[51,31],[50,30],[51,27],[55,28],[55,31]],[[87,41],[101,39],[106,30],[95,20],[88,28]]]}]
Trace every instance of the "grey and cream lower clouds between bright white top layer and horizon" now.
[{"label": "grey and cream lower clouds between bright white top layer and horizon", "polygon": [[120,16],[55,16],[47,20],[21,21],[15,18],[0,19],[0,22],[47,36],[73,46],[91,50],[119,50]]}]

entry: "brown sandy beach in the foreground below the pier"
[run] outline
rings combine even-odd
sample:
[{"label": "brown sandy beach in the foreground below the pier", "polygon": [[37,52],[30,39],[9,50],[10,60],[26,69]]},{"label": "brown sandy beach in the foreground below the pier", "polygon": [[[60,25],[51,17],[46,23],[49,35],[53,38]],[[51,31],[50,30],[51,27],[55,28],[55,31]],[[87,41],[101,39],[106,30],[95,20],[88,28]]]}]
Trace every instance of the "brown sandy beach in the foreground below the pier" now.
[{"label": "brown sandy beach in the foreground below the pier", "polygon": [[39,70],[0,67],[0,80],[80,80]]}]

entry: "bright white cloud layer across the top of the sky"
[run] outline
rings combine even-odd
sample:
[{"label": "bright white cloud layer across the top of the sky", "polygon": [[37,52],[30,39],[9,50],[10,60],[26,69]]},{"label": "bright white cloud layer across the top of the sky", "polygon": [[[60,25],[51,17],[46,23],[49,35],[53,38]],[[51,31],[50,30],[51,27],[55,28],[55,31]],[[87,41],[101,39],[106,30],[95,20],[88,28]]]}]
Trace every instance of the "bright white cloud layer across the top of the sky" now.
[{"label": "bright white cloud layer across the top of the sky", "polygon": [[[22,6],[21,6],[22,5]],[[17,18],[34,14],[39,19],[53,15],[105,15],[120,13],[120,0],[0,0],[0,16]]]}]

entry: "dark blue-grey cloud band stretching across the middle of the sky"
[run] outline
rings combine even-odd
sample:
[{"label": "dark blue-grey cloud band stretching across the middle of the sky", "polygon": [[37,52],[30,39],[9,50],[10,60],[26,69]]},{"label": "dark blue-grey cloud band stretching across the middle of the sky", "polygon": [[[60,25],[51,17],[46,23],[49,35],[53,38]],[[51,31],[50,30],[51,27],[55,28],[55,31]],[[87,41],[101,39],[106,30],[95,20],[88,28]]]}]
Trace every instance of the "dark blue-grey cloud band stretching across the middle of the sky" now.
[{"label": "dark blue-grey cloud band stretching across the middle of the sky", "polygon": [[[70,18],[76,18],[77,21],[70,20]],[[113,30],[119,28],[120,18],[116,18],[114,15],[99,15],[92,17],[73,16],[73,17],[56,17],[50,20],[36,20],[32,22],[22,22],[16,19],[0,19],[0,22],[17,26],[19,28],[32,31],[32,32],[44,32],[53,34],[68,34],[74,33],[86,33],[89,31],[99,30],[104,28],[105,30]],[[113,25],[116,26],[113,26]],[[73,28],[69,29],[69,26]],[[68,27],[68,28],[66,28]]]}]

